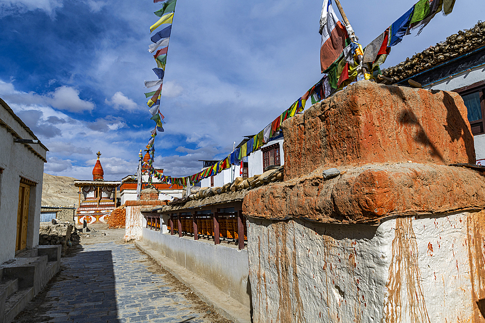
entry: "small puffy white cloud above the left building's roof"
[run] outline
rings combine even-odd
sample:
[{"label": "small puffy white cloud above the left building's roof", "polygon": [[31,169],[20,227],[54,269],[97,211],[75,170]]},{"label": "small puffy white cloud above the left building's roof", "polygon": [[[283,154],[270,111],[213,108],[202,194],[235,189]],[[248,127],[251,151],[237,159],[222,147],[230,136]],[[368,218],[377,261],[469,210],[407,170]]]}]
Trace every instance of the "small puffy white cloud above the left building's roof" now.
[{"label": "small puffy white cloud above the left building's roof", "polygon": [[54,108],[66,110],[70,112],[82,112],[85,110],[91,111],[95,104],[90,101],[81,100],[79,91],[69,86],[61,86],[54,92],[48,94],[50,100],[47,102]]}]

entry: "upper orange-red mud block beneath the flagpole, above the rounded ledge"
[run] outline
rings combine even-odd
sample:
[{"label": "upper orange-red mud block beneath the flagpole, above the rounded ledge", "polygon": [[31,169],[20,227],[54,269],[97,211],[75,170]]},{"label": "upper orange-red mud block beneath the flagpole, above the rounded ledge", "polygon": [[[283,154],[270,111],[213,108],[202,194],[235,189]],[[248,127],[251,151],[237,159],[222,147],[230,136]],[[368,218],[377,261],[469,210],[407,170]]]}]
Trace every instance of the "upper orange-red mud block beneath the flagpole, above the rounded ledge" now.
[{"label": "upper orange-red mud block beneath the flagpole, above the rounded ledge", "polygon": [[321,166],[475,164],[467,108],[454,92],[360,81],[282,128],[285,180]]}]

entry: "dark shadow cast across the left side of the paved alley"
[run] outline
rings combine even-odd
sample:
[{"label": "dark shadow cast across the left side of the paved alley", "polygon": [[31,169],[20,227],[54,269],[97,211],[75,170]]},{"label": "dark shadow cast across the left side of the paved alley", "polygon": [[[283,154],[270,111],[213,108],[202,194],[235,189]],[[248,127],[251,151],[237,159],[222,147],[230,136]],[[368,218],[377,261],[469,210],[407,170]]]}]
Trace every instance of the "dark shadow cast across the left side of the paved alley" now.
[{"label": "dark shadow cast across the left side of the paved alley", "polygon": [[120,323],[111,250],[82,250],[71,248],[60,272],[13,322]]}]

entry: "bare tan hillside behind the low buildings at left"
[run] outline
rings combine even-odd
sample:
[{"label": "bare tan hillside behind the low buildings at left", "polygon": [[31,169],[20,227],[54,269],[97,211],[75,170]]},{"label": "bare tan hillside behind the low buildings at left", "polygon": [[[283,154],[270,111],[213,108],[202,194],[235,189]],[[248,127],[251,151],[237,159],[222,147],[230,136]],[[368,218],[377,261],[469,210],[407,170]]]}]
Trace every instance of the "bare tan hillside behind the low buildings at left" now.
[{"label": "bare tan hillside behind the low buildings at left", "polygon": [[74,177],[54,176],[44,173],[42,205],[78,206],[79,188],[74,187]]}]

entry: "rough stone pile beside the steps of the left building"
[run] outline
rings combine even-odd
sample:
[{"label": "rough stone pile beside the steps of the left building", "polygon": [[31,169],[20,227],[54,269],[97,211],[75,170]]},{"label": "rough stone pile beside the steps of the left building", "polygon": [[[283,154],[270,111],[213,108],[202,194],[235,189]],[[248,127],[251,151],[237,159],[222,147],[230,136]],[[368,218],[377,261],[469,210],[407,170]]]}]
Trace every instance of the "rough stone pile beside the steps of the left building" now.
[{"label": "rough stone pile beside the steps of the left building", "polygon": [[61,245],[63,255],[66,247],[78,245],[79,240],[77,229],[69,222],[40,226],[39,245]]}]

